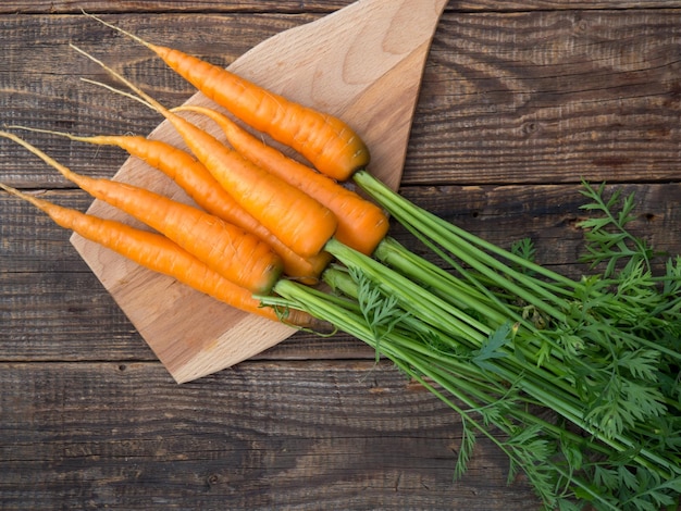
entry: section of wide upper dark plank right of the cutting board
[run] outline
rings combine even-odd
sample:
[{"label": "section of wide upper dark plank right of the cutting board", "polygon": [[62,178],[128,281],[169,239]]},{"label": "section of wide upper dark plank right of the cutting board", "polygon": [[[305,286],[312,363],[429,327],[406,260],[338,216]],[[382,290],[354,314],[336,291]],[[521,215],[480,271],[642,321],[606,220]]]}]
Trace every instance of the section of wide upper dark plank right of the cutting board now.
[{"label": "section of wide upper dark plank right of the cutting board", "polygon": [[681,11],[445,15],[404,183],[681,178]]}]

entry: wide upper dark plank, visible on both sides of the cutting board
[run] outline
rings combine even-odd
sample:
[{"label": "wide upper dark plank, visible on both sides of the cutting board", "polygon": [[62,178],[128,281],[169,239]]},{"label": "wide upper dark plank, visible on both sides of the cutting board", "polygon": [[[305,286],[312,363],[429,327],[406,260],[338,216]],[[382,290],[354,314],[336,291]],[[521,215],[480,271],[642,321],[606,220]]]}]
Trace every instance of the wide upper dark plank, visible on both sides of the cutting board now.
[{"label": "wide upper dark plank, visible on both sides of the cutting board", "polygon": [[[122,23],[226,65],[259,40],[308,20],[178,14]],[[69,41],[103,58],[102,48],[115,47],[117,66],[168,104],[191,94],[145,51],[83,16],[5,16],[1,23],[5,122],[83,134],[146,134],[158,124],[144,107],[81,83],[78,76],[109,78]],[[188,40],[177,26],[201,27],[210,41]],[[680,32],[679,10],[446,14],[426,64],[404,183],[678,180]],[[112,173],[124,159],[54,137],[32,139],[94,174]],[[65,186],[13,145],[3,140],[0,151],[5,182]]]}]

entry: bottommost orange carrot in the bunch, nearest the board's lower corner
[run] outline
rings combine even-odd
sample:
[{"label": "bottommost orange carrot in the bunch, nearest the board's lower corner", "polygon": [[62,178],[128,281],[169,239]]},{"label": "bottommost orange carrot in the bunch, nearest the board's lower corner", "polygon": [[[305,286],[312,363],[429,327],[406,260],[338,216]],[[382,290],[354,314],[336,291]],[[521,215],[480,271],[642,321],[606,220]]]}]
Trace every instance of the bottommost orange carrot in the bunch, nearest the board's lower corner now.
[{"label": "bottommost orange carrot in the bunch, nearest the board's lower corner", "polygon": [[272,308],[260,307],[260,301],[255,299],[249,290],[214,272],[196,257],[160,234],[63,208],[23,194],[2,183],[0,183],[0,188],[33,203],[47,213],[59,226],[111,249],[148,270],[171,276],[228,306],[273,321],[283,319],[293,325],[308,326],[313,323],[310,316],[298,310],[284,311],[287,315],[281,319],[277,311]]}]

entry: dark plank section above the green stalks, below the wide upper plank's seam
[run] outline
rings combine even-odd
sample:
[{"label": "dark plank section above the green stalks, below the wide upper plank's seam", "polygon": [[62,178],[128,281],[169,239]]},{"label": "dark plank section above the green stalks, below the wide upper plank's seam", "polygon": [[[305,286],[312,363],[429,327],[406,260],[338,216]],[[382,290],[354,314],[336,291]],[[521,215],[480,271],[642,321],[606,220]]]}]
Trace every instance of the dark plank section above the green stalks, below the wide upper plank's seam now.
[{"label": "dark plank section above the green stalks, below the wide upper plank's seam", "polygon": [[[508,249],[529,237],[535,244],[537,262],[579,276],[589,271],[578,264],[584,253],[583,232],[578,223],[589,216],[581,209],[587,199],[580,189],[581,185],[447,186],[407,187],[401,194],[500,247]],[[681,184],[610,185],[606,196],[615,190],[622,197],[633,194],[636,199],[636,219],[629,224],[634,235],[661,252],[681,253]]]}]

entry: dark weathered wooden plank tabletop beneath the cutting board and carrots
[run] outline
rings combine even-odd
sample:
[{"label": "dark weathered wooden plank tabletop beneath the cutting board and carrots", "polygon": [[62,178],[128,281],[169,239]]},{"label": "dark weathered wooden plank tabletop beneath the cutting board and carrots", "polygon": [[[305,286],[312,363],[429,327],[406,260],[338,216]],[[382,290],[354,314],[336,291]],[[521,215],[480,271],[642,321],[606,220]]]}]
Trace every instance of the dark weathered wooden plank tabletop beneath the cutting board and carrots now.
[{"label": "dark weathered wooden plank tabletop beneath the cutting board and carrots", "polygon": [[[334,2],[2,2],[2,123],[148,134],[69,42],[99,43],[166,103],[193,90],[81,7],[228,65]],[[194,29],[196,28],[196,29]],[[508,246],[530,236],[570,275],[579,182],[635,191],[636,228],[681,252],[681,2],[451,0],[426,62],[401,192]],[[27,137],[111,176],[120,151]],[[87,208],[25,151],[0,179]],[[408,238],[396,230],[399,239]],[[457,417],[360,342],[296,334],[176,385],[69,242],[0,195],[0,509],[538,509],[481,443],[453,482]]]}]

